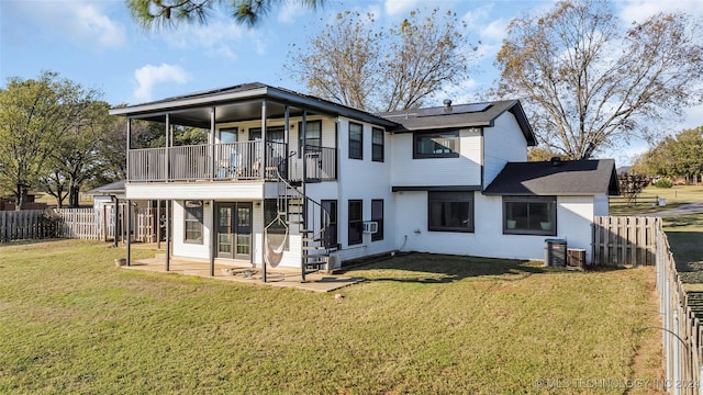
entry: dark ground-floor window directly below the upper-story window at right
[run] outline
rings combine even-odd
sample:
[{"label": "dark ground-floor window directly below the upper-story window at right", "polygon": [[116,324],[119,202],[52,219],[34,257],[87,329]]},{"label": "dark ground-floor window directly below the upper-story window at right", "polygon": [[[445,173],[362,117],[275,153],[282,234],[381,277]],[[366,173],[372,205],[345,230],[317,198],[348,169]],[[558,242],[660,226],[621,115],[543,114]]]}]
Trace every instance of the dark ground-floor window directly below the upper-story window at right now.
[{"label": "dark ground-floor window directly below the upper-story window at right", "polygon": [[429,230],[473,232],[473,192],[427,193]]}]

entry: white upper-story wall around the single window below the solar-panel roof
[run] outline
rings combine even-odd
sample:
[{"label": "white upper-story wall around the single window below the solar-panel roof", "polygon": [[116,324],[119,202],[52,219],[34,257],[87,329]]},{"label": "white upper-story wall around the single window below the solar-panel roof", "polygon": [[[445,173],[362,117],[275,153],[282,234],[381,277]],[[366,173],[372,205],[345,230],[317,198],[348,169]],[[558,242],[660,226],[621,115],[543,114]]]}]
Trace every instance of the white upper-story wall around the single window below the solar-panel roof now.
[{"label": "white upper-story wall around the single window below the solar-panel roof", "polygon": [[479,132],[462,129],[459,137],[460,156],[458,158],[413,159],[413,134],[393,135],[391,184],[394,187],[480,185],[481,135]]}]

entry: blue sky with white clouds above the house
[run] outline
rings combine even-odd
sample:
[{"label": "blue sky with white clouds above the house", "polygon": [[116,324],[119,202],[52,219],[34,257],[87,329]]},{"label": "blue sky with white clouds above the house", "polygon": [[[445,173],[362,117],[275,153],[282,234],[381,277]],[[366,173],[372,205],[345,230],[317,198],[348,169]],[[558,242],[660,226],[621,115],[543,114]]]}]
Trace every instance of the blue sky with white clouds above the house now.
[{"label": "blue sky with white clouds above the house", "polygon": [[[472,78],[439,93],[437,103],[447,97],[455,103],[476,101],[498,77],[493,60],[510,20],[544,12],[554,1],[326,0],[317,11],[295,1],[282,3],[255,29],[234,24],[226,13],[213,13],[207,26],[144,32],[132,22],[123,0],[0,0],[0,79],[4,84],[8,77],[30,79],[42,70],[57,71],[100,89],[113,105],[254,81],[304,91],[283,68],[290,46],[305,43],[337,12],[372,12],[390,25],[410,10],[429,5],[456,12],[471,27],[469,41],[482,43]],[[614,5],[628,22],[677,9],[703,16],[703,0],[623,0]],[[703,106],[668,127],[676,133],[699,125]],[[617,153],[620,162],[643,147],[635,143]]]}]

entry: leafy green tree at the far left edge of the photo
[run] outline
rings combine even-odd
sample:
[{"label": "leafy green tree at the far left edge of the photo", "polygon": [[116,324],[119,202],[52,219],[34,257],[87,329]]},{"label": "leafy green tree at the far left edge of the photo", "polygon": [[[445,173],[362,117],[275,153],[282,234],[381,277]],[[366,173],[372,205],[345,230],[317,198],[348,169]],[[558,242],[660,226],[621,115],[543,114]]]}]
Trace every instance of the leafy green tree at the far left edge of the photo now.
[{"label": "leafy green tree at the far left edge of the photo", "polygon": [[46,159],[99,95],[55,72],[38,79],[10,78],[0,89],[0,184],[14,191],[18,208],[48,171]]}]

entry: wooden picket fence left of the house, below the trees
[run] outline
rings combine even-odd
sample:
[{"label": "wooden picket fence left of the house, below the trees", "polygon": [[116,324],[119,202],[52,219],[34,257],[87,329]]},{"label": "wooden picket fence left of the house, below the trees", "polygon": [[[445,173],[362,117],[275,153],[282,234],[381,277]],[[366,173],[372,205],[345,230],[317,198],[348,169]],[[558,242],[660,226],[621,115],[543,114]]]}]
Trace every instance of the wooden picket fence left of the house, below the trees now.
[{"label": "wooden picket fence left of the house, below the trees", "polygon": [[[125,205],[93,208],[54,208],[0,212],[0,241],[43,238],[76,238],[92,240],[121,240],[126,238]],[[132,237],[142,242],[155,242],[156,210],[133,211]]]}]

